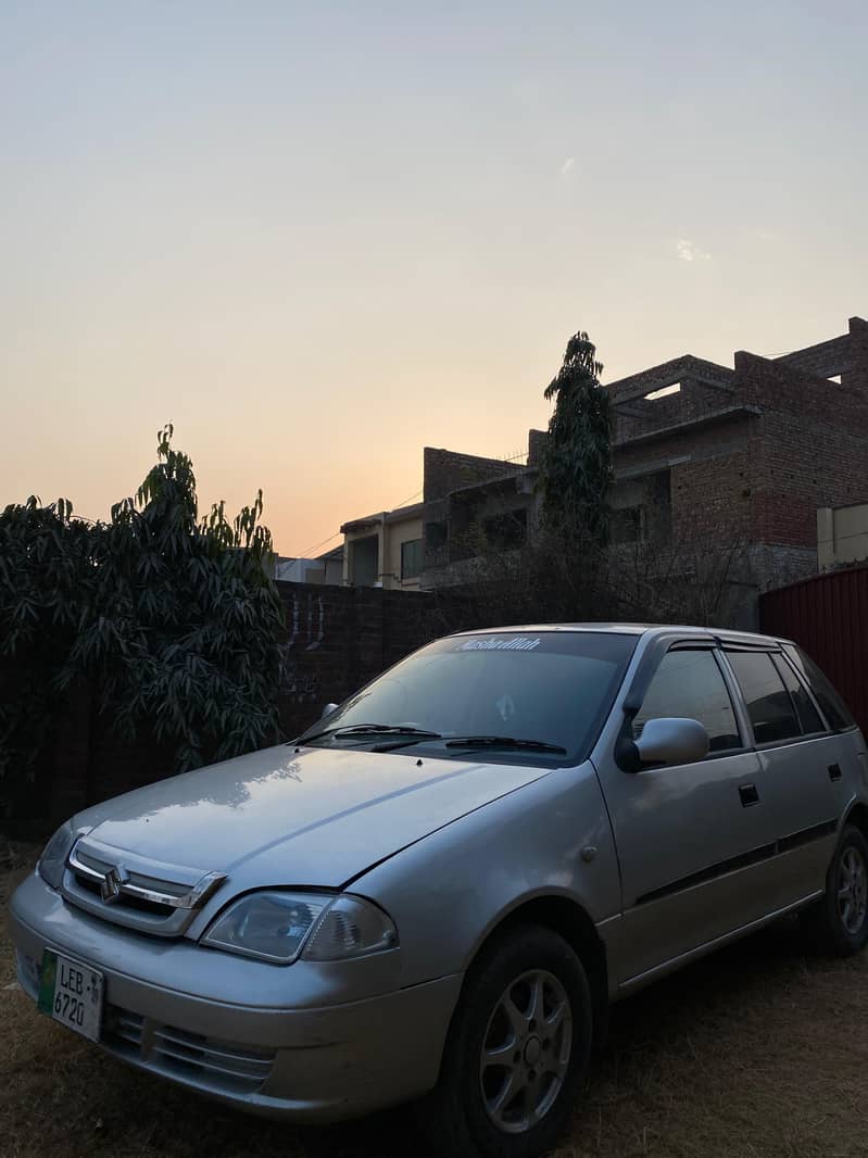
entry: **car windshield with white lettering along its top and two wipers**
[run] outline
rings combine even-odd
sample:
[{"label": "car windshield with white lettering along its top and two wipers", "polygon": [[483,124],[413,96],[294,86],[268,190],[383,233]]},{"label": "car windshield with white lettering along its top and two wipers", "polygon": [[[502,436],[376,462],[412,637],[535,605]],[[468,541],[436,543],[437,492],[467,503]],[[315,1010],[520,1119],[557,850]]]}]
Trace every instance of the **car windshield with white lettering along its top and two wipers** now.
[{"label": "car windshield with white lettering along its top and two wipers", "polygon": [[300,742],[576,763],[596,739],[634,646],[634,636],[603,631],[440,639],[351,696]]}]

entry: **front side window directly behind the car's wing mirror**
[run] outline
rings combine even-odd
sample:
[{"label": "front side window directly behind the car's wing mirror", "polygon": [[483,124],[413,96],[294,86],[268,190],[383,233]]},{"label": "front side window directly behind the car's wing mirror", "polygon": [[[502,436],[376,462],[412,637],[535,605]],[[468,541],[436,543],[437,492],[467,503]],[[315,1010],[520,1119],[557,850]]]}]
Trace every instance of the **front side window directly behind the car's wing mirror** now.
[{"label": "front side window directly behind the car's wing mirror", "polygon": [[729,691],[711,651],[667,652],[633,720],[633,735],[638,739],[648,720],[667,716],[704,724],[711,752],[742,746]]}]

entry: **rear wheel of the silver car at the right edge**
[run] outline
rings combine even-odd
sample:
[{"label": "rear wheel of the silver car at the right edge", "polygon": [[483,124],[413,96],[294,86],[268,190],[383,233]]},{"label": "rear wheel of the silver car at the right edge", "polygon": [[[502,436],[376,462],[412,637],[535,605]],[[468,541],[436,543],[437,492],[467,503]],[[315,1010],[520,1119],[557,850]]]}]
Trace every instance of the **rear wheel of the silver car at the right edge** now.
[{"label": "rear wheel of the silver car at the right edge", "polygon": [[801,921],[812,946],[831,957],[849,957],[868,941],[868,842],[853,824],[841,831],[825,895]]}]

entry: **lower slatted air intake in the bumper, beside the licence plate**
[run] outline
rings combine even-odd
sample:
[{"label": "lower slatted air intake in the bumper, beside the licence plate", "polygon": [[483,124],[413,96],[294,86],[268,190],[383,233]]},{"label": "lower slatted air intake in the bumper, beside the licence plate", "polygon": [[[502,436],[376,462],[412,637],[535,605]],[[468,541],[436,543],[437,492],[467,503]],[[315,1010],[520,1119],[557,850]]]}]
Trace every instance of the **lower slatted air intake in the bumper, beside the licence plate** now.
[{"label": "lower slatted air intake in the bumper, beside the licence plate", "polygon": [[256,1093],[274,1062],[273,1050],[187,1033],[117,1005],[106,1009],[102,1043],[157,1073],[226,1093]]}]

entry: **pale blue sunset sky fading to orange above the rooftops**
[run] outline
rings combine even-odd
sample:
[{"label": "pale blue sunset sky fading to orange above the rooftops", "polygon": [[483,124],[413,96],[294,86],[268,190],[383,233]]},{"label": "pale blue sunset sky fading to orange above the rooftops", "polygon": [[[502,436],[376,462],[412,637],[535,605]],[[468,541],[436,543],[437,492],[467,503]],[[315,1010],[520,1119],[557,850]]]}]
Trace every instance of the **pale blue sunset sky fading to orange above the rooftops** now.
[{"label": "pale blue sunset sky fading to orange above the rooftops", "polygon": [[[868,314],[868,5],[0,0],[0,506],[167,420],[284,555],[604,380]],[[322,545],[321,545],[322,544]]]}]

